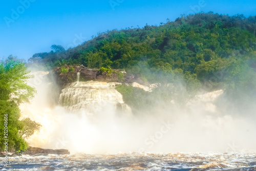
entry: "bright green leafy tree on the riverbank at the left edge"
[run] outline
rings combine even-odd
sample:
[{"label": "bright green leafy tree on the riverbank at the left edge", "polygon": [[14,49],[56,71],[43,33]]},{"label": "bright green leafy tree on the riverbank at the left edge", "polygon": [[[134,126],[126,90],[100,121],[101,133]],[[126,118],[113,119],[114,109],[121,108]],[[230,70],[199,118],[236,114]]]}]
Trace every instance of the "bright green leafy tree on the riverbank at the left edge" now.
[{"label": "bright green leafy tree on the riverbank at the left edge", "polygon": [[[4,142],[8,139],[8,152],[21,152],[27,150],[28,144],[20,135],[26,127],[26,122],[20,121],[20,103],[27,103],[36,93],[33,87],[27,85],[29,75],[23,60],[9,56],[0,64],[0,150],[5,149]],[[7,121],[4,116],[8,115]],[[30,123],[33,123],[31,121]],[[5,126],[8,133],[4,134]]]}]

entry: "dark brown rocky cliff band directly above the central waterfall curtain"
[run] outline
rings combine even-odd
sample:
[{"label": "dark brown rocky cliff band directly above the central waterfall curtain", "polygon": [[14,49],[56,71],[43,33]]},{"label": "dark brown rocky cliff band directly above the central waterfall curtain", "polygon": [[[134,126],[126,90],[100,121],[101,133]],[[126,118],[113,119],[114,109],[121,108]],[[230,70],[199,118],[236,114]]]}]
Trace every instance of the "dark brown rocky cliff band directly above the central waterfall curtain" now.
[{"label": "dark brown rocky cliff band directly above the central waterfall curtain", "polygon": [[[80,66],[72,66],[74,71],[69,71],[64,74],[60,71],[60,67],[54,68],[52,70],[55,80],[60,87],[66,87],[68,83],[73,83],[77,81],[77,73],[79,72],[79,81],[104,81],[104,82],[120,82],[120,83],[133,83],[137,82],[139,84],[144,84],[140,76],[126,74],[125,71],[120,71],[118,69],[113,69],[112,73],[102,72],[100,69],[89,69]],[[65,65],[68,70],[71,66]]]}]

